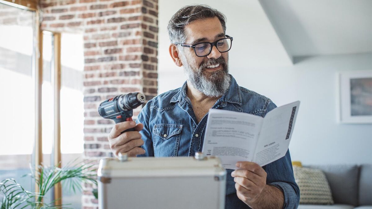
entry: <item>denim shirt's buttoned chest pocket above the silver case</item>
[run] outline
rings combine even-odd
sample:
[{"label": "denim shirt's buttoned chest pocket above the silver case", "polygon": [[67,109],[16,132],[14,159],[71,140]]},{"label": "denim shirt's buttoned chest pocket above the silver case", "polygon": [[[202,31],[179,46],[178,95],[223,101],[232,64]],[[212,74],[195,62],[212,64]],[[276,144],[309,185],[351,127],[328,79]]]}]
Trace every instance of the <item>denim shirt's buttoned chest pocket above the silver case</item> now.
[{"label": "denim shirt's buttoned chest pocket above the silver case", "polygon": [[156,124],[153,128],[155,157],[176,157],[180,143],[182,125]]}]

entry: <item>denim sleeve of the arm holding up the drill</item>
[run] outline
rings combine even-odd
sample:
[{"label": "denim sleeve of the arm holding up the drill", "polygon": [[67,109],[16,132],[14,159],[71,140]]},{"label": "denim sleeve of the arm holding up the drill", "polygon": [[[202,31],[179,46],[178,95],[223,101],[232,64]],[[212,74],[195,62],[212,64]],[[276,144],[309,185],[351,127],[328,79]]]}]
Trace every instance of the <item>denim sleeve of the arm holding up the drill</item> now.
[{"label": "denim sleeve of the arm holding up the drill", "polygon": [[145,154],[137,155],[137,157],[153,157],[154,156],[154,147],[152,141],[152,133],[149,127],[150,122],[150,113],[151,113],[151,102],[148,101],[146,105],[142,108],[140,114],[138,114],[136,123],[142,123],[143,129],[140,131],[144,144],[141,146],[146,152]]}]

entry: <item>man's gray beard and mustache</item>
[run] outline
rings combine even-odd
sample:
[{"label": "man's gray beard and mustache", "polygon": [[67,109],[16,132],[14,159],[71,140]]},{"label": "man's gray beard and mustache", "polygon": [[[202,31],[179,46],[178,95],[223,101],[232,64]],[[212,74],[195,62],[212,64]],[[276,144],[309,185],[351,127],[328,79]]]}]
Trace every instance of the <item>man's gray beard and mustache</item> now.
[{"label": "man's gray beard and mustache", "polygon": [[[183,60],[186,60],[185,57],[183,57]],[[201,64],[195,71],[191,68],[189,63],[184,64],[183,68],[185,69],[187,80],[195,89],[205,94],[205,96],[220,97],[230,87],[231,77],[228,74],[228,60],[224,63],[220,63],[220,65],[222,65],[222,70],[212,72],[207,76],[203,73],[203,68],[210,64],[215,64],[215,62]]]}]

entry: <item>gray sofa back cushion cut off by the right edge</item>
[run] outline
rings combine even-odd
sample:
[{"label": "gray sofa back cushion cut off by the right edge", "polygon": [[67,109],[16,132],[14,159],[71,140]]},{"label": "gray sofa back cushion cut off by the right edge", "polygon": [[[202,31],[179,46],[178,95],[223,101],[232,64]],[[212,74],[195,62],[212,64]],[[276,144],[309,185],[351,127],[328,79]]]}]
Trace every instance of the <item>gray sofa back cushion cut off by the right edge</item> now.
[{"label": "gray sofa back cushion cut off by the right edge", "polygon": [[372,165],[360,165],[359,205],[372,205]]}]

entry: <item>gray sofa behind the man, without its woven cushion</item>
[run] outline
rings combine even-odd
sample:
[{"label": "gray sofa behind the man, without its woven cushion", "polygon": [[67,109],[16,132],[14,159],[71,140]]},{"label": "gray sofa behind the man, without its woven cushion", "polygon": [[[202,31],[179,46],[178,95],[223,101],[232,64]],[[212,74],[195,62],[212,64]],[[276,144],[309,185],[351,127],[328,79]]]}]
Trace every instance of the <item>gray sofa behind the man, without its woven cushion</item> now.
[{"label": "gray sofa behind the man, without its woven cushion", "polygon": [[298,209],[372,209],[372,165],[309,165],[322,170],[334,205],[299,205]]}]

